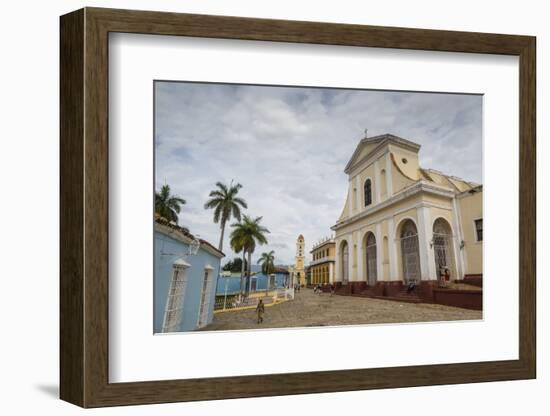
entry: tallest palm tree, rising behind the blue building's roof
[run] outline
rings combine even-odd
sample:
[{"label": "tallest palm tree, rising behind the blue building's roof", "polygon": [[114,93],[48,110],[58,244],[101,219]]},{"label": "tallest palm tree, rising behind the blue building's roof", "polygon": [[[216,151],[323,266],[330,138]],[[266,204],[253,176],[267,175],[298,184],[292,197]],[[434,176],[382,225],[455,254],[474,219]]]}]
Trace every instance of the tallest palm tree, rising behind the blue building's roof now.
[{"label": "tallest palm tree, rising behind the blue building's roof", "polygon": [[220,223],[221,235],[218,249],[223,251],[223,236],[225,233],[225,224],[231,220],[231,217],[237,221],[241,220],[241,207],[248,208],[246,201],[239,198],[237,194],[242,188],[240,183],[233,185],[233,181],[229,187],[221,182],[216,182],[218,189],[210,192],[210,199],[204,204],[204,209],[214,210],[214,222]]}]

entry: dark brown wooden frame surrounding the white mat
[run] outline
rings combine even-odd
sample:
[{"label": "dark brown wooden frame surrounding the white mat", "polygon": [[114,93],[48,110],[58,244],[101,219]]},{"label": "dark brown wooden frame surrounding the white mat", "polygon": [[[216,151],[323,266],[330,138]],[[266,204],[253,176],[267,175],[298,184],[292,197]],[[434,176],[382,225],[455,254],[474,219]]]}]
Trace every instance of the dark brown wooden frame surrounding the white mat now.
[{"label": "dark brown wooden frame surrounding the white mat", "polygon": [[[62,16],[60,28],[63,400],[83,407],[100,407],[535,378],[534,37],[98,8]],[[109,383],[109,32],[519,56],[519,359]]]}]

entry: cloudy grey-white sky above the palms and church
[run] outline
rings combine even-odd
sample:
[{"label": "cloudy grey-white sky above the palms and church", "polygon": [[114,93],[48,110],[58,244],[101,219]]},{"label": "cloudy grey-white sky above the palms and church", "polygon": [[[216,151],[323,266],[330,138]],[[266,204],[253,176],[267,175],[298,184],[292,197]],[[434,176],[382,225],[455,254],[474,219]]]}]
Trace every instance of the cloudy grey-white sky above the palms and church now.
[{"label": "cloudy grey-white sky above the palms and church", "polygon": [[474,95],[156,82],[155,186],[183,197],[180,225],[217,246],[203,205],[217,181],[241,183],[246,212],[271,231],[254,263],[275,250],[278,264],[291,264],[299,234],[307,252],[331,234],[365,128],[422,145],[424,168],[482,183],[481,109]]}]

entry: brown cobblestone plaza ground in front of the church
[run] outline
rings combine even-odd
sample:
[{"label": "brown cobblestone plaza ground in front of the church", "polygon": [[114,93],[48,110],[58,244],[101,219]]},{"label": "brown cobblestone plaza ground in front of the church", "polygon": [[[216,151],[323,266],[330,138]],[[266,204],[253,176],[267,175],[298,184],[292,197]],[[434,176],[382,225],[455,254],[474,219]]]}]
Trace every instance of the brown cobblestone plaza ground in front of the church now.
[{"label": "brown cobblestone plaza ground in front of the church", "polygon": [[263,324],[256,323],[254,310],[214,314],[203,330],[289,328],[307,326],[359,325],[482,319],[481,311],[443,305],[315,294],[311,289],[296,292],[293,301],[265,308]]}]

